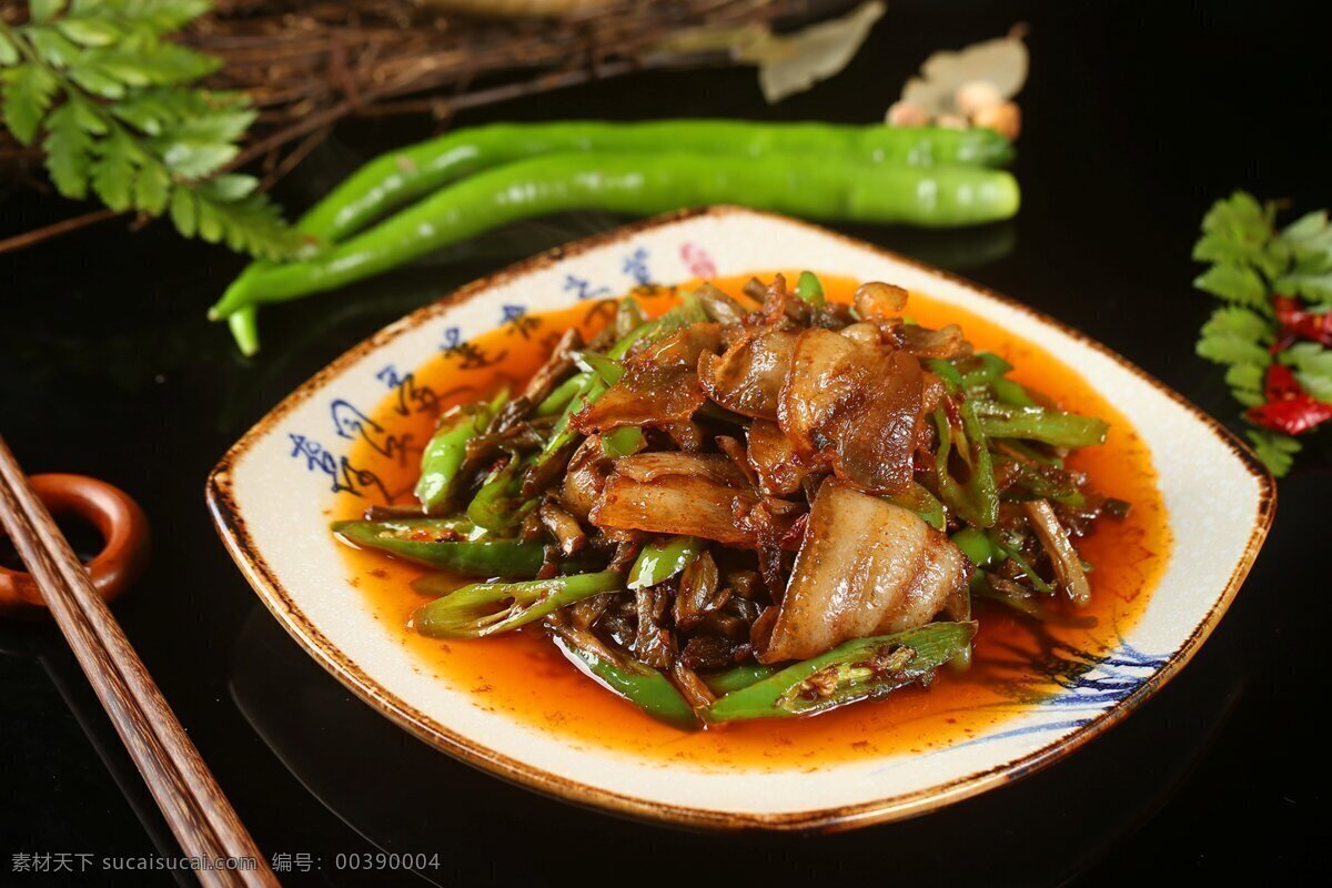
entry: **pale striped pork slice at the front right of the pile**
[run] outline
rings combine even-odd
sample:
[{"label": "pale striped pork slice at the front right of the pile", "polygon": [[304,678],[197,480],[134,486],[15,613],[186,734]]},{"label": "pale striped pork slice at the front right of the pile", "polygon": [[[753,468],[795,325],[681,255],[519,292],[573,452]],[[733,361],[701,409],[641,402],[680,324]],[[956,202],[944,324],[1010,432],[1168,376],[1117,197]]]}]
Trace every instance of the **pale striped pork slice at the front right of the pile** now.
[{"label": "pale striped pork slice at the front right of the pile", "polygon": [[970,566],[916,514],[829,479],[819,487],[763,663],[924,626],[960,595]]}]

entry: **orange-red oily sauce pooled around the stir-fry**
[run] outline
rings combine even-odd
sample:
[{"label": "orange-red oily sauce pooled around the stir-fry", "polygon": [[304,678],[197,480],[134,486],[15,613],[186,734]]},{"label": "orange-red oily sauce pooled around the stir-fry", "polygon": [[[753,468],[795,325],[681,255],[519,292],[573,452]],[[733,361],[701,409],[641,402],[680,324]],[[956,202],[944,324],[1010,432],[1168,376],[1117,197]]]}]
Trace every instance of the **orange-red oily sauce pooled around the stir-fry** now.
[{"label": "orange-red oily sauce pooled around the stir-fry", "polygon": [[[767,280],[770,273],[761,273]],[[848,301],[855,282],[821,276],[829,298]],[[714,281],[737,293],[749,276]],[[794,280],[789,274],[787,280]],[[674,304],[673,290],[639,293],[651,314]],[[472,341],[470,346],[444,353],[414,370],[414,382],[429,386],[448,406],[474,401],[507,381],[525,381],[546,358],[554,337],[570,326],[599,329],[609,318],[609,304],[583,304],[573,309],[533,313]],[[569,664],[539,631],[507,636],[441,642],[408,628],[412,611],[424,603],[409,583],[421,568],[345,549],[356,586],[376,616],[402,627],[402,643],[420,659],[421,668],[438,680],[470,692],[477,704],[511,714],[558,734],[573,746],[609,748],[649,756],[662,763],[689,762],[694,767],[815,768],[826,762],[844,762],[888,752],[922,752],[966,739],[1011,718],[1023,700],[1039,699],[1055,688],[1052,675],[1079,670],[1068,650],[1091,655],[1114,646],[1142,615],[1169,556],[1171,537],[1166,507],[1156,489],[1151,454],[1136,431],[1111,403],[1092,390],[1072,369],[1040,346],[1026,342],[968,312],[912,293],[907,314],[924,326],[959,324],[978,350],[990,350],[1014,365],[1012,378],[1030,385],[1078,413],[1111,423],[1104,446],[1076,454],[1070,466],[1086,471],[1102,493],[1132,503],[1128,518],[1102,519],[1091,535],[1076,541],[1091,574],[1092,604],[1078,611],[1092,616],[1094,628],[1051,627],[1016,616],[1002,606],[978,602],[972,666],[967,672],[940,671],[928,688],[910,688],[890,698],[843,707],[810,719],[763,720],[733,724],[723,730],[682,732],[641,714]],[[477,355],[482,355],[478,359]],[[476,366],[492,361],[486,366]],[[374,419],[393,431],[410,433],[402,459],[389,459],[369,446],[349,454],[357,465],[372,469],[394,493],[397,502],[410,502],[420,447],[429,439],[436,413],[418,411],[404,418],[394,410],[398,397],[385,399]],[[366,506],[358,497],[344,495],[337,518],[354,518]],[[465,580],[460,580],[461,582]]]}]

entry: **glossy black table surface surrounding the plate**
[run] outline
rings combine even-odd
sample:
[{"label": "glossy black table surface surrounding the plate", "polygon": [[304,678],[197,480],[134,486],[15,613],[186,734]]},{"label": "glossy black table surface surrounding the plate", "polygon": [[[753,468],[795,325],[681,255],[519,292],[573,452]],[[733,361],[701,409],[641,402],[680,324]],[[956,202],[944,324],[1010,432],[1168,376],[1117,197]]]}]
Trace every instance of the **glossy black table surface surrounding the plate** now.
[{"label": "glossy black table surface surrounding the plate", "polygon": [[[653,73],[470,113],[496,118],[742,116],[870,121],[930,51],[1031,25],[1032,76],[1011,224],[851,233],[1024,300],[1233,418],[1192,343],[1209,310],[1189,281],[1208,204],[1243,186],[1332,204],[1325,37],[1297,4],[892,3],[850,69],[765,107],[749,71]],[[304,206],[424,122],[340,129],[282,186]],[[4,186],[0,186],[4,188]],[[0,234],[73,214],[0,190]],[[1325,446],[1281,485],[1276,529],[1231,612],[1184,672],[1066,762],[944,812],[836,836],[717,837],[550,801],[437,754],[306,659],[250,594],[204,507],[204,477],[292,387],[384,324],[537,249],[614,225],[515,226],[420,268],[268,312],[238,358],[205,306],[241,262],[168,226],[103,225],[0,258],[0,430],[31,473],[131,491],[156,529],[147,576],[117,606],[180,720],[292,884],[685,884],[924,880],[1124,884],[1249,865],[1319,881],[1329,591],[1316,567],[1332,497]],[[1183,533],[1205,534],[1205,527]],[[0,624],[0,883],[13,853],[176,853],[59,635]],[[337,855],[438,853],[420,873],[338,869]],[[301,872],[308,867],[308,872]],[[1240,869],[1237,867],[1245,867]],[[172,884],[88,873],[89,884]]]}]

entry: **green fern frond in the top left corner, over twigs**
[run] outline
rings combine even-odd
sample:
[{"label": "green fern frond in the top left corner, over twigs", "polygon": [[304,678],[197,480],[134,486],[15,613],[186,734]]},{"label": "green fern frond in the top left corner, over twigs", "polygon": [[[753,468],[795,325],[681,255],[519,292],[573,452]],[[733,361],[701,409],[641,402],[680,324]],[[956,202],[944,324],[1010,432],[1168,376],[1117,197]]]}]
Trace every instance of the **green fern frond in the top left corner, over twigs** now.
[{"label": "green fern frond in the top left corner, over twigs", "polygon": [[258,180],[222,169],[257,113],[196,84],[221,64],[168,37],[208,0],[32,0],[0,20],[0,118],[39,145],[56,190],[116,212],[169,214],[186,237],[265,258],[298,246]]}]

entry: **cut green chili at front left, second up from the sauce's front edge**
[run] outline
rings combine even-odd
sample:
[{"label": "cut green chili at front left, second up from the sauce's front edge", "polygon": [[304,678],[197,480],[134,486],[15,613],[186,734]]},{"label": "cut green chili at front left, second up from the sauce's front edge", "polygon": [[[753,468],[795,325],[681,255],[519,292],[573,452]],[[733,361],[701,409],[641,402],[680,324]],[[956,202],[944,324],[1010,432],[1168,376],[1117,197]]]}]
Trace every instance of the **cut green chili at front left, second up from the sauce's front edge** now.
[{"label": "cut green chili at front left, second up from the sauce's front edge", "polygon": [[623,588],[623,578],[613,570],[522,583],[473,583],[418,607],[412,626],[433,638],[482,638],[617,588]]}]

